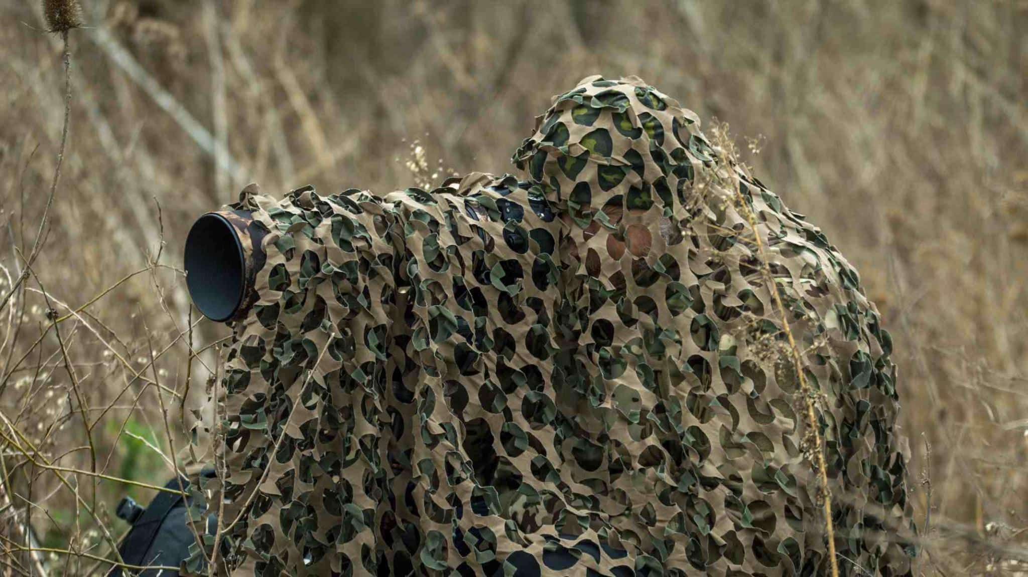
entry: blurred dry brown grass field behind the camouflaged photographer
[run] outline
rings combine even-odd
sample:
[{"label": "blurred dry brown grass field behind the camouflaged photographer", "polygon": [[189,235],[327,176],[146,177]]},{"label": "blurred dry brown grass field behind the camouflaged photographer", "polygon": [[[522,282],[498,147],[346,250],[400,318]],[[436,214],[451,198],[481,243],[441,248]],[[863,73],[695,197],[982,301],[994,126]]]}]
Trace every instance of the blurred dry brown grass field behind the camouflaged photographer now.
[{"label": "blurred dry brown grass field behind the camouflaged photographer", "polygon": [[[386,192],[509,170],[550,94],[594,72],[755,137],[746,162],[861,272],[896,341],[922,521],[930,495],[919,571],[1028,562],[1023,0],[328,4],[85,5],[47,240],[0,309],[0,546],[26,547],[28,521],[31,547],[73,554],[0,554],[0,571],[96,571],[125,529],[117,499],[178,466],[166,423],[184,434],[178,408],[199,407],[227,334],[189,312],[192,219],[250,181]],[[0,16],[3,297],[47,203],[65,92],[39,2]]]}]

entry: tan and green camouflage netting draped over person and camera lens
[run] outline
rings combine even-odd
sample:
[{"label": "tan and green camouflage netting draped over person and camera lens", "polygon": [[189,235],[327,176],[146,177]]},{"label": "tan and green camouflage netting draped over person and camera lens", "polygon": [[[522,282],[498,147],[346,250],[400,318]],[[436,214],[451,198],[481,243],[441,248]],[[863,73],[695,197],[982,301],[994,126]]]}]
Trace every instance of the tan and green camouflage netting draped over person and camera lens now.
[{"label": "tan and green camouflage netting draped over person and camera lens", "polygon": [[431,192],[232,205],[267,260],[222,382],[219,565],[829,574],[742,198],[818,392],[840,573],[910,575],[891,341],[820,230],[637,78],[556,97],[513,161]]}]

